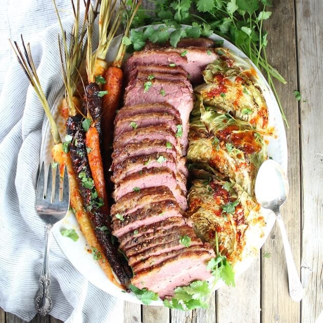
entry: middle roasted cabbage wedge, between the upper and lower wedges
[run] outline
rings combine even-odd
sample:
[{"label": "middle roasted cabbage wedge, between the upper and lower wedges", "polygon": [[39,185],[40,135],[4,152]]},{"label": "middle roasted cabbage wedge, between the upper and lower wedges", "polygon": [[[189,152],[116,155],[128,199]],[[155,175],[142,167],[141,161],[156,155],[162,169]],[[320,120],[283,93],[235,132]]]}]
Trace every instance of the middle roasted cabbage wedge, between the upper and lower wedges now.
[{"label": "middle roasted cabbage wedge, between the upper and lower wedges", "polygon": [[267,159],[263,137],[247,122],[204,107],[198,96],[191,117],[187,159],[205,163],[254,196],[254,182]]}]

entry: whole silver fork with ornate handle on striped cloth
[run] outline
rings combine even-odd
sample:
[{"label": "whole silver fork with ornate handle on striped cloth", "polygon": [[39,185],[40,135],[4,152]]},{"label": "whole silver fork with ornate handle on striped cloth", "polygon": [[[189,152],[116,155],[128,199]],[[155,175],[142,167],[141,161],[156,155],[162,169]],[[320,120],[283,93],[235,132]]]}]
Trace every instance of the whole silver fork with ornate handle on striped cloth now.
[{"label": "whole silver fork with ornate handle on striped cloth", "polygon": [[57,165],[56,167],[50,165],[47,182],[45,179],[45,166],[43,163],[41,171],[39,172],[36,191],[36,211],[39,217],[46,223],[44,262],[42,274],[39,278],[39,285],[41,287],[35,299],[36,310],[41,316],[45,316],[52,309],[52,299],[49,294],[50,278],[48,270],[51,230],[56,222],[62,220],[66,216],[70,204],[66,168],[64,170],[63,189],[60,189],[60,174]]}]

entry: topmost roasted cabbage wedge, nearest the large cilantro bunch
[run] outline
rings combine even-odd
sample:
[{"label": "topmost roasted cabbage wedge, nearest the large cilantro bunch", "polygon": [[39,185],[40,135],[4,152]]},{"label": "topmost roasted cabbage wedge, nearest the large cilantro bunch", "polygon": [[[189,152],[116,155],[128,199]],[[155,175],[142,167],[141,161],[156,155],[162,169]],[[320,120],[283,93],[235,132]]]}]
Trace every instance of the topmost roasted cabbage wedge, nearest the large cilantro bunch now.
[{"label": "topmost roasted cabbage wedge, nearest the large cilantro bunch", "polygon": [[206,106],[229,112],[262,133],[269,132],[267,104],[256,71],[226,48],[216,51],[219,58],[203,72],[205,84],[194,91]]}]

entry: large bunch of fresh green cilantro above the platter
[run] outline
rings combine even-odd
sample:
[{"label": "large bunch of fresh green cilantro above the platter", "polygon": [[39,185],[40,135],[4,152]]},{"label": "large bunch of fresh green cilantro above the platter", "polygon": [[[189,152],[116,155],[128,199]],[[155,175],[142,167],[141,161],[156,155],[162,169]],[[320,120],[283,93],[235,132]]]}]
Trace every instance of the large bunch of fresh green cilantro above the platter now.
[{"label": "large bunch of fresh green cilantro above the platter", "polygon": [[[152,43],[170,41],[176,47],[182,37],[210,36],[213,32],[228,39],[252,62],[265,71],[279,105],[282,118],[288,127],[273,79],[286,84],[286,80],[272,67],[267,58],[268,33],[264,21],[272,14],[270,0],[151,0],[155,15],[140,8],[132,27],[148,24],[164,24],[156,30],[152,27],[132,30],[130,40],[134,50],[140,50],[147,39]],[[180,24],[191,25],[182,28]],[[171,33],[169,28],[175,28]]]}]

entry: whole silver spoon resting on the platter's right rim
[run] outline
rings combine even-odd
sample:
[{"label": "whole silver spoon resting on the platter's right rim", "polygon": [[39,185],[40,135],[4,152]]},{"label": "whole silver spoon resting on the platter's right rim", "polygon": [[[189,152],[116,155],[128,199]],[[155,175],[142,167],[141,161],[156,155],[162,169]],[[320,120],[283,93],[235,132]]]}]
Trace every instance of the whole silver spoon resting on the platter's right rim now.
[{"label": "whole silver spoon resting on the platter's right rim", "polygon": [[272,210],[276,214],[282,244],[285,249],[289,294],[294,301],[300,301],[304,290],[295,267],[291,246],[288,241],[284,222],[280,215],[280,206],[287,200],[289,192],[288,179],[282,168],[274,160],[266,160],[259,168],[256,183],[255,194],[258,203],[265,209]]}]

